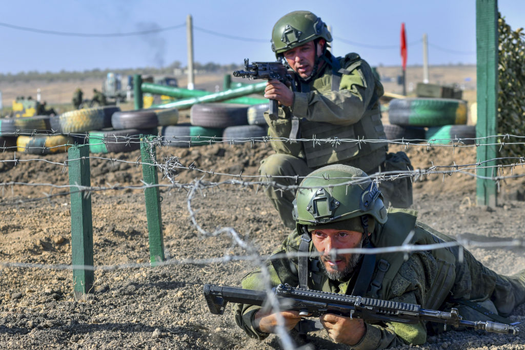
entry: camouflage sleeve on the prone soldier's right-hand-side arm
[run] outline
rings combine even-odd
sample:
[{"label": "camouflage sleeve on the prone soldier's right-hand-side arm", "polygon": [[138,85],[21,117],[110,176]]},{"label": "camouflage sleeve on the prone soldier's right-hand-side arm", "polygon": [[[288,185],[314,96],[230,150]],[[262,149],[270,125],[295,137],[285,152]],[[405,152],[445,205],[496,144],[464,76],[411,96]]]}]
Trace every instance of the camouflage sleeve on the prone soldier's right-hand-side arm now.
[{"label": "camouflage sleeve on the prone soldier's right-hand-side arm", "polygon": [[[388,300],[424,305],[425,289],[430,285],[435,272],[435,259],[432,254],[418,252],[403,263],[392,281]],[[352,348],[384,349],[394,346],[412,344],[421,345],[426,342],[426,326],[424,322],[405,324],[390,322],[383,324],[367,324],[366,333],[361,341]]]}]

